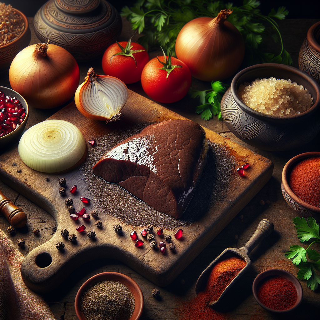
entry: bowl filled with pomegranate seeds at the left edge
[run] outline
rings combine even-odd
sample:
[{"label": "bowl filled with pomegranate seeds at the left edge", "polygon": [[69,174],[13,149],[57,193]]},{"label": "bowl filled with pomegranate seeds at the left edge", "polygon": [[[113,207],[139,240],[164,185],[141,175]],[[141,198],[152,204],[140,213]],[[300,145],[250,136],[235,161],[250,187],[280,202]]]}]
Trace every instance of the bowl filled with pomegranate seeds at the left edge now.
[{"label": "bowl filled with pomegranate seeds at the left edge", "polygon": [[19,141],[27,124],[27,101],[16,91],[0,86],[0,147],[10,148]]}]

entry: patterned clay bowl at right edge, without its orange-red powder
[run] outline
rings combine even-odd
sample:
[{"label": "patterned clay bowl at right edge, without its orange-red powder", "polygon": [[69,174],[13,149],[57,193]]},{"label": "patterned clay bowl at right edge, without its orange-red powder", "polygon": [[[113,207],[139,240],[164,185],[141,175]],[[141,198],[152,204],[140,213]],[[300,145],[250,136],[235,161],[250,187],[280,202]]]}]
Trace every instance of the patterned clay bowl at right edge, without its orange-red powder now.
[{"label": "patterned clay bowl at right edge, without its orange-red powder", "polygon": [[315,158],[320,157],[320,152],[306,152],[301,153],[298,156],[293,157],[290,159],[284,166],[282,171],[282,182],[281,182],[281,191],[282,195],[284,196],[285,201],[287,204],[301,217],[307,218],[311,217],[314,214],[320,213],[320,208],[314,207],[311,204],[308,204],[302,201],[298,196],[296,196],[289,186],[289,178],[291,171],[294,165],[298,164],[301,160],[305,160],[307,158]]}]

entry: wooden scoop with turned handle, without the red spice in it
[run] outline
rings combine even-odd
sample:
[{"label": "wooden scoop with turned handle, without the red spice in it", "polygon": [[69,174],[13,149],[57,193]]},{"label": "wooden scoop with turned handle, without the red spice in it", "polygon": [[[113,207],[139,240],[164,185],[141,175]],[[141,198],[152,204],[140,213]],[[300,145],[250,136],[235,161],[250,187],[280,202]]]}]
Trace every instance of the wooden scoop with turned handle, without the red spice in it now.
[{"label": "wooden scoop with turned handle, without the red spice in it", "polygon": [[223,251],[216,259],[214,259],[207,268],[203,271],[203,273],[199,276],[197,283],[196,283],[196,294],[198,295],[199,292],[205,290],[205,286],[207,284],[208,278],[210,276],[212,268],[221,260],[227,259],[229,257],[238,255],[242,259],[246,261],[246,266],[236,275],[236,277],[228,284],[228,286],[224,289],[224,291],[221,293],[218,300],[213,300],[209,303],[209,306],[214,306],[216,303],[218,303],[221,298],[224,296],[224,294],[236,283],[236,281],[244,275],[246,270],[251,265],[251,260],[248,257],[248,254],[252,251],[252,249],[265,237],[271,234],[273,231],[273,223],[270,222],[267,219],[263,219],[260,221],[256,231],[250,238],[250,240],[240,249],[236,248],[227,248],[225,251]]}]

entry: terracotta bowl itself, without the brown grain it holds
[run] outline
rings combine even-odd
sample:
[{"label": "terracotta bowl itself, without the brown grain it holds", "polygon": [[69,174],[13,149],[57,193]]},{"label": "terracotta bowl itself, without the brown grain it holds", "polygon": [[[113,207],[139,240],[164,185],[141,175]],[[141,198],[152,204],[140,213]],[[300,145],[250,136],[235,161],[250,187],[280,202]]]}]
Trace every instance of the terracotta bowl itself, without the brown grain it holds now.
[{"label": "terracotta bowl itself, without the brown grain it holds", "polygon": [[28,25],[27,17],[21,11],[17,9],[14,10],[22,16],[22,19],[25,23],[25,29],[17,39],[0,47],[0,72],[3,72],[6,69],[10,68],[11,62],[14,57],[23,48],[28,46],[31,40],[31,31]]}]

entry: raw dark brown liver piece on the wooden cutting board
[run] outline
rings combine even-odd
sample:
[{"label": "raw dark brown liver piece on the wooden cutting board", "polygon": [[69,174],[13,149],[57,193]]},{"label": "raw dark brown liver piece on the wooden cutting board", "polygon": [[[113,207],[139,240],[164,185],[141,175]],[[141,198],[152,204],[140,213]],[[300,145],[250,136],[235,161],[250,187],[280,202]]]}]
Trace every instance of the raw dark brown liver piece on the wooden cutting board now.
[{"label": "raw dark brown liver piece on the wooden cutting board", "polygon": [[150,207],[180,218],[207,163],[208,143],[199,124],[151,124],[110,149],[93,167]]}]

